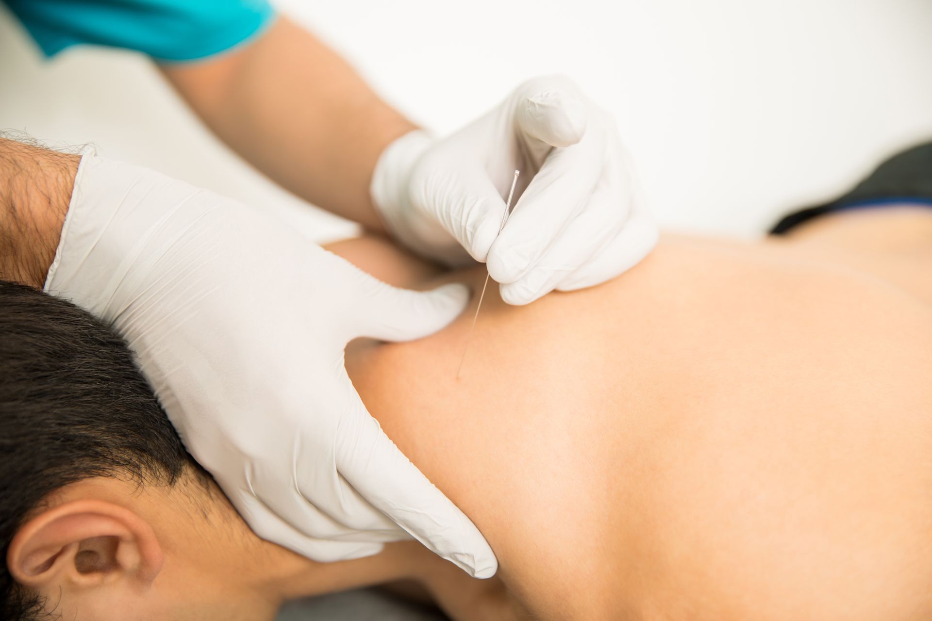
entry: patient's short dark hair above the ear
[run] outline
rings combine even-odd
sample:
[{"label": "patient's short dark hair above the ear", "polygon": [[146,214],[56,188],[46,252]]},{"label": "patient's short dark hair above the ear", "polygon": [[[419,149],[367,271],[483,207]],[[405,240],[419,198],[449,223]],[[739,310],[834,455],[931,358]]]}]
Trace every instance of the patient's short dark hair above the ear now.
[{"label": "patient's short dark hair above the ear", "polygon": [[74,304],[0,280],[0,619],[41,613],[6,555],[48,493],[89,477],[171,485],[191,465],[114,331]]}]

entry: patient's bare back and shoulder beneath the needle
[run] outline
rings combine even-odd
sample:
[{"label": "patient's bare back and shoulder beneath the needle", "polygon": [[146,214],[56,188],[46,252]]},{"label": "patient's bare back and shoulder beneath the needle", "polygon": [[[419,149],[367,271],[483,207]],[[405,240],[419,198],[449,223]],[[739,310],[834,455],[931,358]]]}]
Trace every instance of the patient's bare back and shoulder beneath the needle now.
[{"label": "patient's bare back and shoulder beneath the needle", "polygon": [[[426,274],[373,240],[334,250]],[[349,371],[533,614],[932,614],[917,296],[790,247],[665,237],[590,290],[515,308],[490,289],[458,380],[471,320],[350,348]]]}]

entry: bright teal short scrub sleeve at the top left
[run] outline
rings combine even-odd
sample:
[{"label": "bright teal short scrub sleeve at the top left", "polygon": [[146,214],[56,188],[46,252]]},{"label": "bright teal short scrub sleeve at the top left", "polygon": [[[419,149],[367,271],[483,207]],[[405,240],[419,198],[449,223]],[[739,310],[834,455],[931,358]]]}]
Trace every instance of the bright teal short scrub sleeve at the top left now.
[{"label": "bright teal short scrub sleeve at the top left", "polygon": [[156,61],[194,61],[262,32],[267,0],[6,0],[47,56],[79,44],[124,47]]}]

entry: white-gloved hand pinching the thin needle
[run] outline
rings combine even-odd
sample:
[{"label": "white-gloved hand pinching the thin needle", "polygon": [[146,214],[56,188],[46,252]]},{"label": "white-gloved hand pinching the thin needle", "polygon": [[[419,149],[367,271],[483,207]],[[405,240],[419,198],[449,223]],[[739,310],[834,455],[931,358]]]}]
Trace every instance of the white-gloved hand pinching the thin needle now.
[{"label": "white-gloved hand pinching the thin needle", "polygon": [[[515,169],[517,202],[498,235]],[[502,299],[528,304],[618,276],[651,251],[657,228],[635,183],[610,115],[547,76],[443,140],[415,131],[392,142],[371,192],[404,245],[448,264],[485,261]]]}]

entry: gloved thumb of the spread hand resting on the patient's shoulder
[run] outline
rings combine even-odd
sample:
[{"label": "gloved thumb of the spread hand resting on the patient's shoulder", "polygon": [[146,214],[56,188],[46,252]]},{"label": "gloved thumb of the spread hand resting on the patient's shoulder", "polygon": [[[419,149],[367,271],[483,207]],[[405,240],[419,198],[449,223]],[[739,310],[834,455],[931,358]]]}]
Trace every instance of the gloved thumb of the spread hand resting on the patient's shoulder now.
[{"label": "gloved thumb of the spread hand resting on the patient's shoulder", "polygon": [[445,328],[469,303],[470,290],[460,283],[413,291],[369,278],[372,286],[358,306],[363,315],[359,336],[383,341],[419,339]]}]

